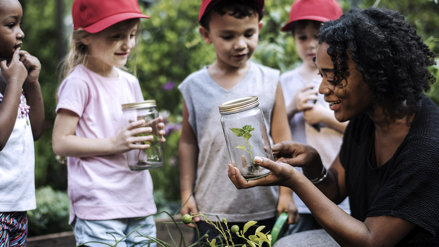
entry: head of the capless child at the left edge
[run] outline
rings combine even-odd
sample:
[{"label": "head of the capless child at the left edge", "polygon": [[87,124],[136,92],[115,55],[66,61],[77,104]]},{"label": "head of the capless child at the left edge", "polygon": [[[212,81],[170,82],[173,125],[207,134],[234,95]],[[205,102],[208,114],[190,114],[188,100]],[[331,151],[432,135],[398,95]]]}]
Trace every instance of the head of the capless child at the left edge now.
[{"label": "head of the capless child at the left edge", "polygon": [[0,2],[0,58],[12,58],[14,51],[22,46],[25,36],[20,28],[22,15],[22,5],[17,0]]}]

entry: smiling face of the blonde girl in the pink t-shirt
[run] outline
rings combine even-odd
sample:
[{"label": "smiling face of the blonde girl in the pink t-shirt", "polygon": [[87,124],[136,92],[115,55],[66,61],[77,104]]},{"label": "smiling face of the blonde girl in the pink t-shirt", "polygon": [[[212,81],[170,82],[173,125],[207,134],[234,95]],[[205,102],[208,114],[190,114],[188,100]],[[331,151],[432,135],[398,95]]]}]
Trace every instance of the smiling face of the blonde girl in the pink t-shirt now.
[{"label": "smiling face of the blonde girl in the pink t-shirt", "polygon": [[97,68],[124,66],[136,45],[136,20],[119,22],[85,38],[83,43],[90,49],[88,64]]}]

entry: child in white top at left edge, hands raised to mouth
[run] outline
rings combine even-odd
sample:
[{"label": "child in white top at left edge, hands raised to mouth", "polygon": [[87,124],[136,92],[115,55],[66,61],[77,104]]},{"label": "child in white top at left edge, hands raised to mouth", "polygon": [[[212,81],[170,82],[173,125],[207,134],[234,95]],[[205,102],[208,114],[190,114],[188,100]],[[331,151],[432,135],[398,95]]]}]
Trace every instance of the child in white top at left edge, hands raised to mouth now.
[{"label": "child in white top at left edge, hands raised to mouth", "polygon": [[20,49],[21,4],[4,0],[0,9],[0,246],[25,246],[26,211],[36,208],[33,141],[44,124],[41,64]]}]

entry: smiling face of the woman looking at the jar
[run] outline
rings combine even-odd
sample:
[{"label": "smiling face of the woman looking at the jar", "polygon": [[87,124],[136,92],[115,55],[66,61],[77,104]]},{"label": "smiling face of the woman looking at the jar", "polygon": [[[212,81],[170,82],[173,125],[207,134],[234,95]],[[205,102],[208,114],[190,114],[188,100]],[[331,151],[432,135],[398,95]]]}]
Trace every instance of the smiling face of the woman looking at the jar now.
[{"label": "smiling face of the woman looking at the jar", "polygon": [[[334,65],[327,54],[328,44],[322,43],[317,47],[316,65],[322,82],[319,93],[329,103],[334,111],[335,119],[339,122],[352,120],[374,109],[374,100],[369,86],[364,82],[363,75],[356,70],[356,63],[349,56],[348,69],[339,85],[334,83]],[[339,76],[339,75],[338,75]]]}]

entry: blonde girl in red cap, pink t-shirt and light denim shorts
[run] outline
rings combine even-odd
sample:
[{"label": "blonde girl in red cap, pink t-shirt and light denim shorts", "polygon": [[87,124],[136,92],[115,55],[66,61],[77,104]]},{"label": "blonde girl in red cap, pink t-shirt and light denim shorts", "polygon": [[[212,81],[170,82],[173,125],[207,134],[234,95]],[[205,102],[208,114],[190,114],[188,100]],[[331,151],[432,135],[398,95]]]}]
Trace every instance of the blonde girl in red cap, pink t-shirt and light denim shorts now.
[{"label": "blonde girl in red cap, pink t-shirt and light denim shorts", "polygon": [[[121,105],[144,98],[137,78],[119,69],[135,47],[140,18],[149,17],[137,0],[75,0],[72,16],[52,144],[56,154],[68,156],[69,223],[76,244],[114,245],[133,231],[155,237],[153,217],[140,218],[157,211],[151,175],[130,171],[124,154],[149,148],[139,143],[152,136],[136,135],[152,130],[144,120],[123,127]],[[138,235],[130,234],[117,246],[148,243]]]}]

